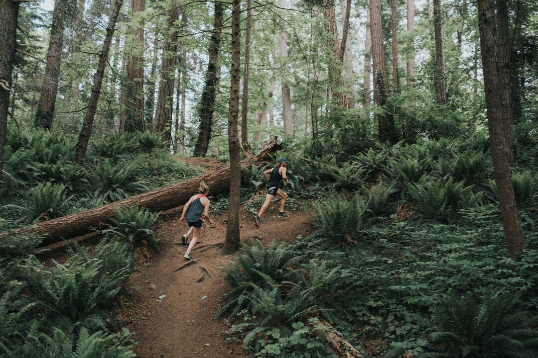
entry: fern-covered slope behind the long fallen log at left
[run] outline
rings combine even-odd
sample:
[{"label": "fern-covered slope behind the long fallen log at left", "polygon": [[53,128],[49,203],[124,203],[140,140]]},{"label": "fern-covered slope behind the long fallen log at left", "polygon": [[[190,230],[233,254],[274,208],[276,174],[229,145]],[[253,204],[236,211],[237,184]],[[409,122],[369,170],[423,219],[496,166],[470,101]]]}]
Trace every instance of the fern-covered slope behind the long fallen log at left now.
[{"label": "fern-covered slope behind the long fallen log at left", "polygon": [[4,227],[37,223],[118,201],[200,173],[173,159],[160,134],[109,133],[90,142],[81,165],[75,139],[10,128],[0,189]]}]

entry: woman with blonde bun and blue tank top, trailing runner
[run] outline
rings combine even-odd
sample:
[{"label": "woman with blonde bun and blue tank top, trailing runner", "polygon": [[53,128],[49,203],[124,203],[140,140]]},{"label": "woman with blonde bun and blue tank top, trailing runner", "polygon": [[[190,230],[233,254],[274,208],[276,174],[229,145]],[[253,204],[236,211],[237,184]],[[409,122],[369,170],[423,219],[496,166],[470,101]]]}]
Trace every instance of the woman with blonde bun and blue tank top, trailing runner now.
[{"label": "woman with blonde bun and blue tank top, trailing runner", "polygon": [[189,201],[187,201],[179,219],[179,221],[182,222],[187,218],[187,224],[190,228],[189,231],[181,237],[183,245],[187,245],[187,239],[189,235],[193,233],[193,239],[190,240],[187,252],[183,256],[187,260],[193,259],[190,255],[190,251],[193,249],[194,244],[196,244],[196,240],[200,237],[200,228],[202,227],[203,217],[205,216],[209,223],[213,224],[213,220],[209,218],[209,204],[211,202],[206,198],[206,195],[209,193],[209,187],[203,181],[200,183],[199,191],[200,194],[193,195]]}]

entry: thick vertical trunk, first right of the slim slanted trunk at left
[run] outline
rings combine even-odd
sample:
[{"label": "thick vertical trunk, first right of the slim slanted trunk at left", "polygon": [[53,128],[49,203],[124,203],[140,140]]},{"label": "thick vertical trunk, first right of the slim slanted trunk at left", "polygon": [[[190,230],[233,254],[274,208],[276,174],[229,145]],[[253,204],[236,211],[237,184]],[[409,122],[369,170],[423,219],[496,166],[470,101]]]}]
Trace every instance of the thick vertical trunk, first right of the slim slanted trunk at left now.
[{"label": "thick vertical trunk, first right of the slim slanted trunk at left", "polygon": [[125,47],[125,123],[126,131],[144,131],[144,23],[138,18],[145,9],[145,0],[131,0],[131,35]]}]

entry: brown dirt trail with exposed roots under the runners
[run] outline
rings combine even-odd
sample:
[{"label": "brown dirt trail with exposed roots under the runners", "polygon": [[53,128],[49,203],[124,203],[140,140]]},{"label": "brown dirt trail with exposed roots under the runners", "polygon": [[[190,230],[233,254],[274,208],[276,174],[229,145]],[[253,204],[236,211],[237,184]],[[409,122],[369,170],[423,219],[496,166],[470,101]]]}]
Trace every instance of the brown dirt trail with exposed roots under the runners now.
[{"label": "brown dirt trail with exposed roots under the runners", "polygon": [[[259,229],[254,227],[251,215],[242,210],[242,242],[252,238],[264,244],[272,240],[289,242],[310,230],[306,214],[298,211],[289,219],[278,218],[277,205],[274,200]],[[177,245],[187,225],[178,219],[161,224],[158,229],[161,252],[131,275],[123,297],[129,305],[123,306],[122,316],[134,332],[139,357],[246,355],[240,342],[228,341],[221,333],[227,328],[223,319],[213,319],[226,291],[222,267],[231,260],[231,256],[222,256],[218,247],[224,242],[226,217],[227,214],[217,215],[216,227],[204,225],[199,243],[191,253],[195,262],[189,264],[183,259],[186,247]]]}]

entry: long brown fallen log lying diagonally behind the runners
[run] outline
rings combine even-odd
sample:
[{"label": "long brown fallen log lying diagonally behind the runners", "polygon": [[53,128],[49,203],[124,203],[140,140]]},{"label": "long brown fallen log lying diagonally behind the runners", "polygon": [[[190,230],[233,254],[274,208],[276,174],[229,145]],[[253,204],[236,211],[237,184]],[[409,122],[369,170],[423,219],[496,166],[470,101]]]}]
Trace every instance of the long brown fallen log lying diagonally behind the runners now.
[{"label": "long brown fallen log lying diagonally behind the runners", "polygon": [[[252,164],[258,164],[263,161],[267,154],[279,149],[281,149],[281,145],[278,144],[277,137],[275,137],[273,141],[264,145],[257,155],[244,159],[241,165],[250,167]],[[134,195],[94,209],[47,220],[32,227],[15,231],[43,235],[45,237],[41,246],[50,245],[62,241],[62,239],[81,236],[90,232],[92,228],[101,227],[101,225],[110,221],[114,216],[114,211],[120,207],[137,205],[150,211],[162,211],[181,206],[198,191],[202,180],[209,186],[211,194],[223,193],[229,190],[230,187],[230,167],[226,166],[222,169],[181,181],[178,184]],[[0,233],[0,235],[5,235],[5,233]]]}]

